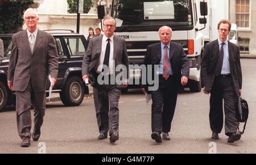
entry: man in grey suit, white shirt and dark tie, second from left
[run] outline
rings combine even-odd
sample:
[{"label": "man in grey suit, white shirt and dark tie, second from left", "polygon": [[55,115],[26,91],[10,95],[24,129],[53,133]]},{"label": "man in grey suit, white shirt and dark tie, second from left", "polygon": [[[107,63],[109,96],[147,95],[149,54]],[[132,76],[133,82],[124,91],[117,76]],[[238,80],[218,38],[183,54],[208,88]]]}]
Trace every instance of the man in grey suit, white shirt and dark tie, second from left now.
[{"label": "man in grey suit, white shirt and dark tie, second from left", "polygon": [[[129,65],[125,40],[115,36],[115,20],[107,17],[103,21],[104,35],[90,40],[82,62],[82,79],[88,79],[93,86],[93,99],[100,135],[98,139],[108,137],[110,143],[119,139],[119,109],[118,101],[121,88],[127,87],[127,68]],[[117,66],[123,65],[123,70],[117,71]],[[123,74],[120,81],[115,77]],[[102,78],[102,75],[104,77]],[[110,80],[110,82],[109,82]],[[113,82],[114,81],[114,82]],[[102,83],[104,82],[104,83]]]}]

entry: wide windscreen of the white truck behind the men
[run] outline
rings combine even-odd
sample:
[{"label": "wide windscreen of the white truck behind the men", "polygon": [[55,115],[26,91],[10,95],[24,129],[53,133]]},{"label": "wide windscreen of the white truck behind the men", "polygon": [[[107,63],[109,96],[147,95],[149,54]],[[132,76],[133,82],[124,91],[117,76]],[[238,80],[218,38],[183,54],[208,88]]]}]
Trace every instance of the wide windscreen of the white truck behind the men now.
[{"label": "wide windscreen of the white truck behind the men", "polygon": [[157,31],[160,26],[193,25],[191,0],[119,0],[114,13],[115,32]]}]

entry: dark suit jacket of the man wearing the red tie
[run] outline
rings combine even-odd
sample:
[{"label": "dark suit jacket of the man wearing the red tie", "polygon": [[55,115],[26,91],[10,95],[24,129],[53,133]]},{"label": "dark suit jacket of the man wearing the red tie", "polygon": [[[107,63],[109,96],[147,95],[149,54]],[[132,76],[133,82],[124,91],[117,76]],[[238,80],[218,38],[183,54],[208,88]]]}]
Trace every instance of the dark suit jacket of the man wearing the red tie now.
[{"label": "dark suit jacket of the man wearing the red tie", "polygon": [[[171,64],[172,72],[175,77],[175,88],[178,92],[183,91],[184,86],[181,85],[181,77],[185,76],[189,78],[189,62],[188,57],[184,53],[183,46],[174,42],[170,43],[169,59]],[[154,65],[159,65],[161,60],[161,43],[148,45],[147,52],[144,57],[143,64],[153,65],[152,76],[154,77]],[[144,86],[147,90],[148,83]],[[147,91],[148,92],[148,91]]]}]

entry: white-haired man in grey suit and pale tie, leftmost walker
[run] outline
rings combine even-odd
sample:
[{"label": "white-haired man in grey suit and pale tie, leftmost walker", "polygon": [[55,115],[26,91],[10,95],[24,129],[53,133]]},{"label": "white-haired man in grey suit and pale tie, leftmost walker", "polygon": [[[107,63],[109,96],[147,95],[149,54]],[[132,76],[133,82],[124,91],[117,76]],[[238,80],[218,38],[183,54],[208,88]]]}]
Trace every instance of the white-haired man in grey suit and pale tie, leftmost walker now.
[{"label": "white-haired man in grey suit and pale tie, leftmost walker", "polygon": [[56,83],[58,58],[52,35],[40,31],[35,9],[24,12],[27,29],[13,35],[8,70],[8,86],[16,92],[16,120],[22,147],[30,146],[31,105],[34,110],[32,139],[38,141],[46,110],[46,82],[51,75],[51,84]]}]

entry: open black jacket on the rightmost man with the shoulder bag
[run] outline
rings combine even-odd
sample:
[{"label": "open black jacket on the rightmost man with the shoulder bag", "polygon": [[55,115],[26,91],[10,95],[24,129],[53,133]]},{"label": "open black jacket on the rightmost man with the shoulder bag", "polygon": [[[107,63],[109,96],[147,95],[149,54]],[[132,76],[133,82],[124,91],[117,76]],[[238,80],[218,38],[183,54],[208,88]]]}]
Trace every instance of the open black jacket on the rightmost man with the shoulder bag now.
[{"label": "open black jacket on the rightmost man with the shoulder bag", "polygon": [[[233,88],[237,96],[239,89],[242,88],[242,71],[240,64],[240,50],[237,45],[228,41],[229,48],[229,66],[233,81]],[[204,48],[204,54],[201,61],[201,81],[205,91],[210,92],[216,75],[214,70],[220,56],[218,40],[207,43]]]}]

